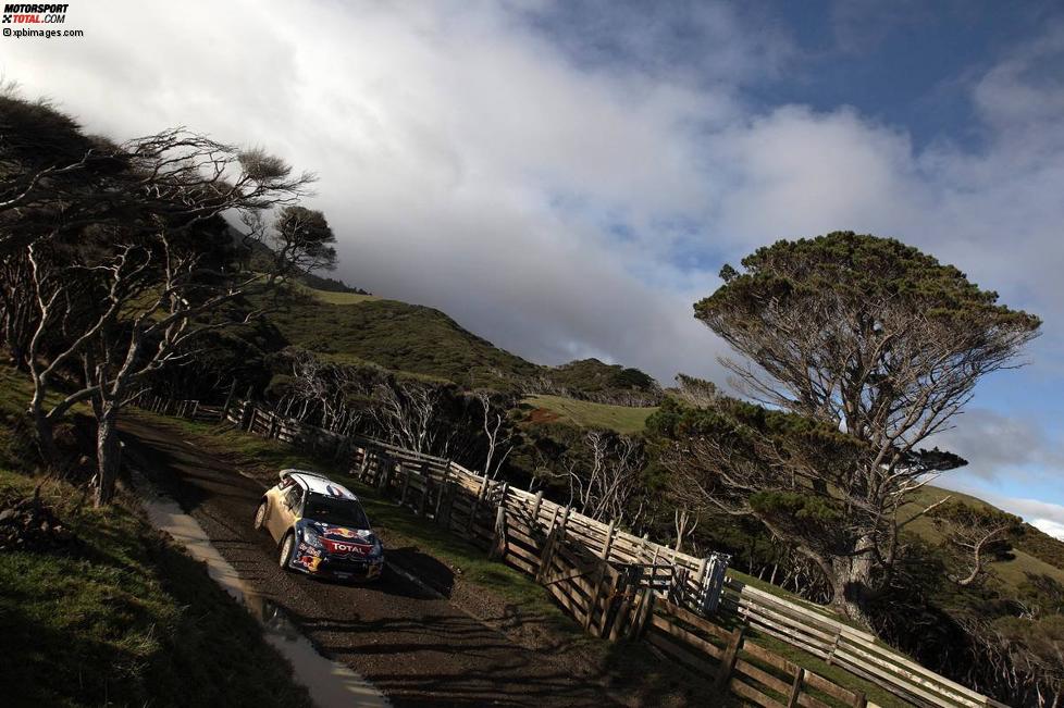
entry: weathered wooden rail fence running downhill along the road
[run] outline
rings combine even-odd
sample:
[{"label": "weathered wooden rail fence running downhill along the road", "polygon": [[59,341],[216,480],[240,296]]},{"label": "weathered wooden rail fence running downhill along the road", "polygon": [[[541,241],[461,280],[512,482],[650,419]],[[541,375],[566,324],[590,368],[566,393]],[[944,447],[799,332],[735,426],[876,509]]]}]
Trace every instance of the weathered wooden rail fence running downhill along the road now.
[{"label": "weathered wooden rail fence running downhill along the road", "polygon": [[[250,401],[224,405],[144,395],[144,409],[198,421],[230,421],[256,435],[345,456],[350,473],[492,557],[533,575],[585,630],[641,639],[767,708],[873,706],[862,694],[777,656],[745,626],[878,684],[915,706],[1009,708],[884,646],[812,603],[784,599],[695,558],[569,507],[478,474],[444,458],[285,419]],[[719,599],[719,606],[718,606]],[[721,624],[740,628],[731,631]]]}]

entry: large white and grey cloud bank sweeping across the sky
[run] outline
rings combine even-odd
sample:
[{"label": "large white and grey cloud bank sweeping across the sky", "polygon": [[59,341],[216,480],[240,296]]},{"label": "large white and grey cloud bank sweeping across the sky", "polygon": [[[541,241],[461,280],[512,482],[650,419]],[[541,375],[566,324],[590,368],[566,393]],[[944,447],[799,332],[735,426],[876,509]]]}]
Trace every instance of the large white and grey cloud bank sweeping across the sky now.
[{"label": "large white and grey cloud bank sweeping across the sky", "polygon": [[[1064,348],[1064,91],[1031,71],[1064,33],[973,83],[983,149],[915,150],[845,107],[752,110],[744,84],[785,71],[790,48],[725,5],[697,17],[714,38],[698,46],[701,82],[641,39],[675,18],[648,18],[646,35],[608,15],[591,27],[638,59],[611,65],[530,29],[536,12],[101,0],[72,8],[84,39],[5,42],[0,71],[94,131],[187,124],[318,171],[341,275],[540,361],[719,377],[722,347],[691,318],[719,261],[853,228],[927,248],[1047,316],[1032,371],[1051,371]],[[690,252],[705,257],[680,263]]]}]

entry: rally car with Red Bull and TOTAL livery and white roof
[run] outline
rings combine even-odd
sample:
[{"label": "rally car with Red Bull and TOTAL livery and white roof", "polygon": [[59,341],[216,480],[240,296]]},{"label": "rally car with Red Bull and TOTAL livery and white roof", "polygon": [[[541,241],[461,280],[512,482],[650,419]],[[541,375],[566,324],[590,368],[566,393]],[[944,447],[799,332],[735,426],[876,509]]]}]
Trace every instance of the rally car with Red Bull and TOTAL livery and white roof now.
[{"label": "rally car with Red Bull and TOTAL livery and white roof", "polygon": [[282,470],[255,512],[255,527],[263,526],[285,570],[337,580],[381,576],[384,548],[358,497],[320,474]]}]

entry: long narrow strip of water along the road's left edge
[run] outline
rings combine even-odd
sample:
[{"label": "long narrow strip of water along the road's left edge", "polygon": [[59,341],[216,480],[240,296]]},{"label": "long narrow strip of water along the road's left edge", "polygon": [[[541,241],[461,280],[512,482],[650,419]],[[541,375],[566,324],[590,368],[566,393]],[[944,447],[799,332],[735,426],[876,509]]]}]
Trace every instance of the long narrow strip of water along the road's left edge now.
[{"label": "long narrow strip of water along the road's left edge", "polygon": [[389,706],[387,698],[366,679],[318,654],[310,641],[285,617],[284,610],[240,579],[236,569],[211,545],[202,526],[182,511],[176,501],[156,494],[144,481],[138,486],[145,493],[141,502],[151,524],[170,534],[193,558],[206,562],[214,582],[259,620],[267,642],[292,663],[296,681],[307,686],[319,708]]}]

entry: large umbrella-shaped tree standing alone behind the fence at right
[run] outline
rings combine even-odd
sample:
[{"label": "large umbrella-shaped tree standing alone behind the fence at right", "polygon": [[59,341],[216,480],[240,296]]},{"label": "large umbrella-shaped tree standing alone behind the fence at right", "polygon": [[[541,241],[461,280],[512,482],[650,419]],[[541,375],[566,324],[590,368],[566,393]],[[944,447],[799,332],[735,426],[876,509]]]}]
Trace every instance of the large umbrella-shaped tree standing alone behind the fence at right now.
[{"label": "large umbrella-shaped tree standing alone behind the fence at right", "polygon": [[920,444],[979,378],[1017,365],[1040,322],[956,268],[852,232],[778,241],[721,277],[695,316],[741,356],[723,363],[770,410],[723,401],[681,425],[678,492],[759,520],[822,570],[840,610],[867,621],[898,551],[899,507],[963,463]]}]

